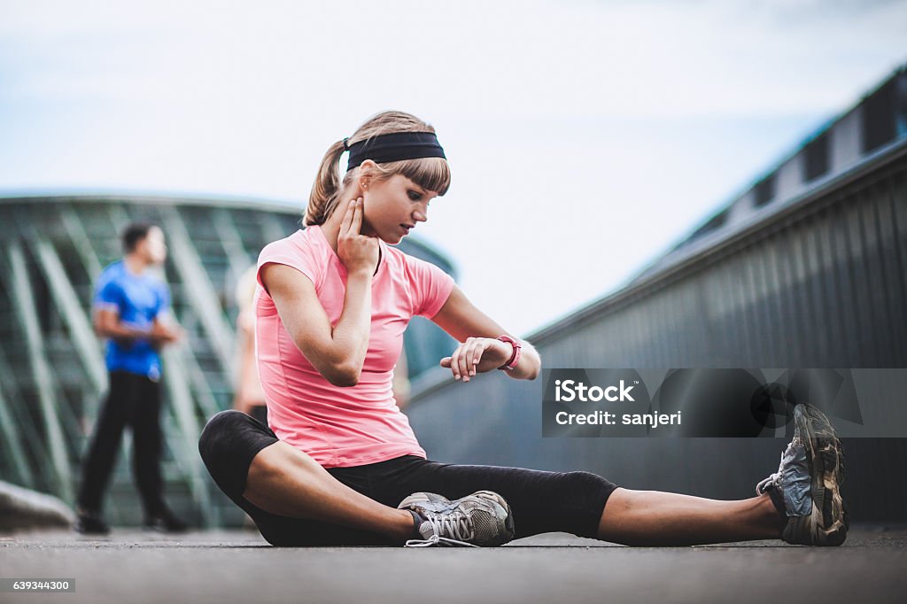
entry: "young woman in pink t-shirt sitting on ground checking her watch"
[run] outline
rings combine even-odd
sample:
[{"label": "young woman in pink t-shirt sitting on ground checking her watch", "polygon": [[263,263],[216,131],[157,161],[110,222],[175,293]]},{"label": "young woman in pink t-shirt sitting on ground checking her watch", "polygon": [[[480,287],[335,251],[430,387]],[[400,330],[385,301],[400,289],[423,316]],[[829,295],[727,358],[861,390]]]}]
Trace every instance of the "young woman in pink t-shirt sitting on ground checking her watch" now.
[{"label": "young woman in pink t-shirt sitting on ground checking her watch", "polygon": [[268,542],[500,545],[550,531],[628,545],[844,541],[841,443],[805,405],[778,472],[742,501],[632,491],[590,472],[427,460],[391,394],[411,317],[460,342],[440,364],[463,383],[496,370],[534,379],[541,369],[532,346],[444,271],[391,247],[449,185],[434,129],[379,113],[327,150],[307,228],[261,251],[256,345],[269,426],[221,412],[200,453]]}]

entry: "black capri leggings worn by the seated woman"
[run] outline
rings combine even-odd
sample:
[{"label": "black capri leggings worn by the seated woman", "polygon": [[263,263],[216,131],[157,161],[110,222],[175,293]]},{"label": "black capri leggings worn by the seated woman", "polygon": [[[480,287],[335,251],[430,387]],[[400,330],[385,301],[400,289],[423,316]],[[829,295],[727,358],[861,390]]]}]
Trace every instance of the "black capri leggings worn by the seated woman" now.
[{"label": "black capri leggings worn by the seated woman", "polygon": [[[201,433],[199,451],[220,490],[242,508],[272,545],[400,545],[385,535],[323,521],[279,516],[246,501],[249,464],[278,442],[265,425],[239,411],[222,411]],[[376,502],[396,507],[414,492],[459,499],[476,491],[500,493],[511,506],[516,538],[542,532],[595,537],[605,502],[617,486],[590,472],[541,472],[489,465],[453,465],[404,455],[386,462],[327,468],[336,480]]]}]

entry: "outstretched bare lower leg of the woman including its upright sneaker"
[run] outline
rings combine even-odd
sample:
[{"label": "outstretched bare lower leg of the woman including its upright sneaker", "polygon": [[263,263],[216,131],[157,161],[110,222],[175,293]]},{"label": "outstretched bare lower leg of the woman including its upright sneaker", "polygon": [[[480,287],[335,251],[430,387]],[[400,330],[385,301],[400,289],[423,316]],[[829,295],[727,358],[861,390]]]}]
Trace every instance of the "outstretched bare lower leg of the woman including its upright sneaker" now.
[{"label": "outstretched bare lower leg of the woman including its upright sneaker", "polygon": [[781,455],[778,471],[756,486],[757,497],[717,502],[617,489],[601,513],[599,537],[629,545],[751,539],[841,545],[848,529],[841,495],[841,441],[828,418],[811,404],[797,404],[793,420],[794,438]]}]

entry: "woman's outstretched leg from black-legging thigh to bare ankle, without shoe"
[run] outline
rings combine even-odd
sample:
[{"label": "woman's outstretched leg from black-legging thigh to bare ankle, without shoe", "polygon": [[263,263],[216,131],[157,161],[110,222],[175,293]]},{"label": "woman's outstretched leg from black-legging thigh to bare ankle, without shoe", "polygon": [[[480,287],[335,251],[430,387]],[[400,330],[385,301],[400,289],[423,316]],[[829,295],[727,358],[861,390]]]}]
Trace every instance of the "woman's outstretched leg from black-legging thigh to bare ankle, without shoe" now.
[{"label": "woman's outstretched leg from black-legging thigh to bare ankle, without shoe", "polygon": [[376,491],[379,501],[418,491],[448,498],[480,489],[498,492],[511,505],[517,539],[564,531],[627,545],[689,545],[781,536],[782,517],[767,494],[722,502],[631,491],[590,472],[427,461],[412,462],[402,473],[390,470],[385,487]]}]

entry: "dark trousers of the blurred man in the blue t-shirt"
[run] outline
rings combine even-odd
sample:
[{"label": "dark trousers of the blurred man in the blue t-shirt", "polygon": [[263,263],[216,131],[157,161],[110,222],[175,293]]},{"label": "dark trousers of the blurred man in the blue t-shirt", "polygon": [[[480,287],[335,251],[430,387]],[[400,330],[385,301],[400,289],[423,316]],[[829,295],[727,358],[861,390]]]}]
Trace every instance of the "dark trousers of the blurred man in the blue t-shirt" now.
[{"label": "dark trousers of the blurred man in the blue t-shirt", "polygon": [[161,385],[144,375],[110,373],[110,393],[94,427],[92,443],[83,466],[78,503],[100,511],[107,483],[120,449],[122,431],[132,428],[132,472],[146,515],[163,510],[161,478]]}]

